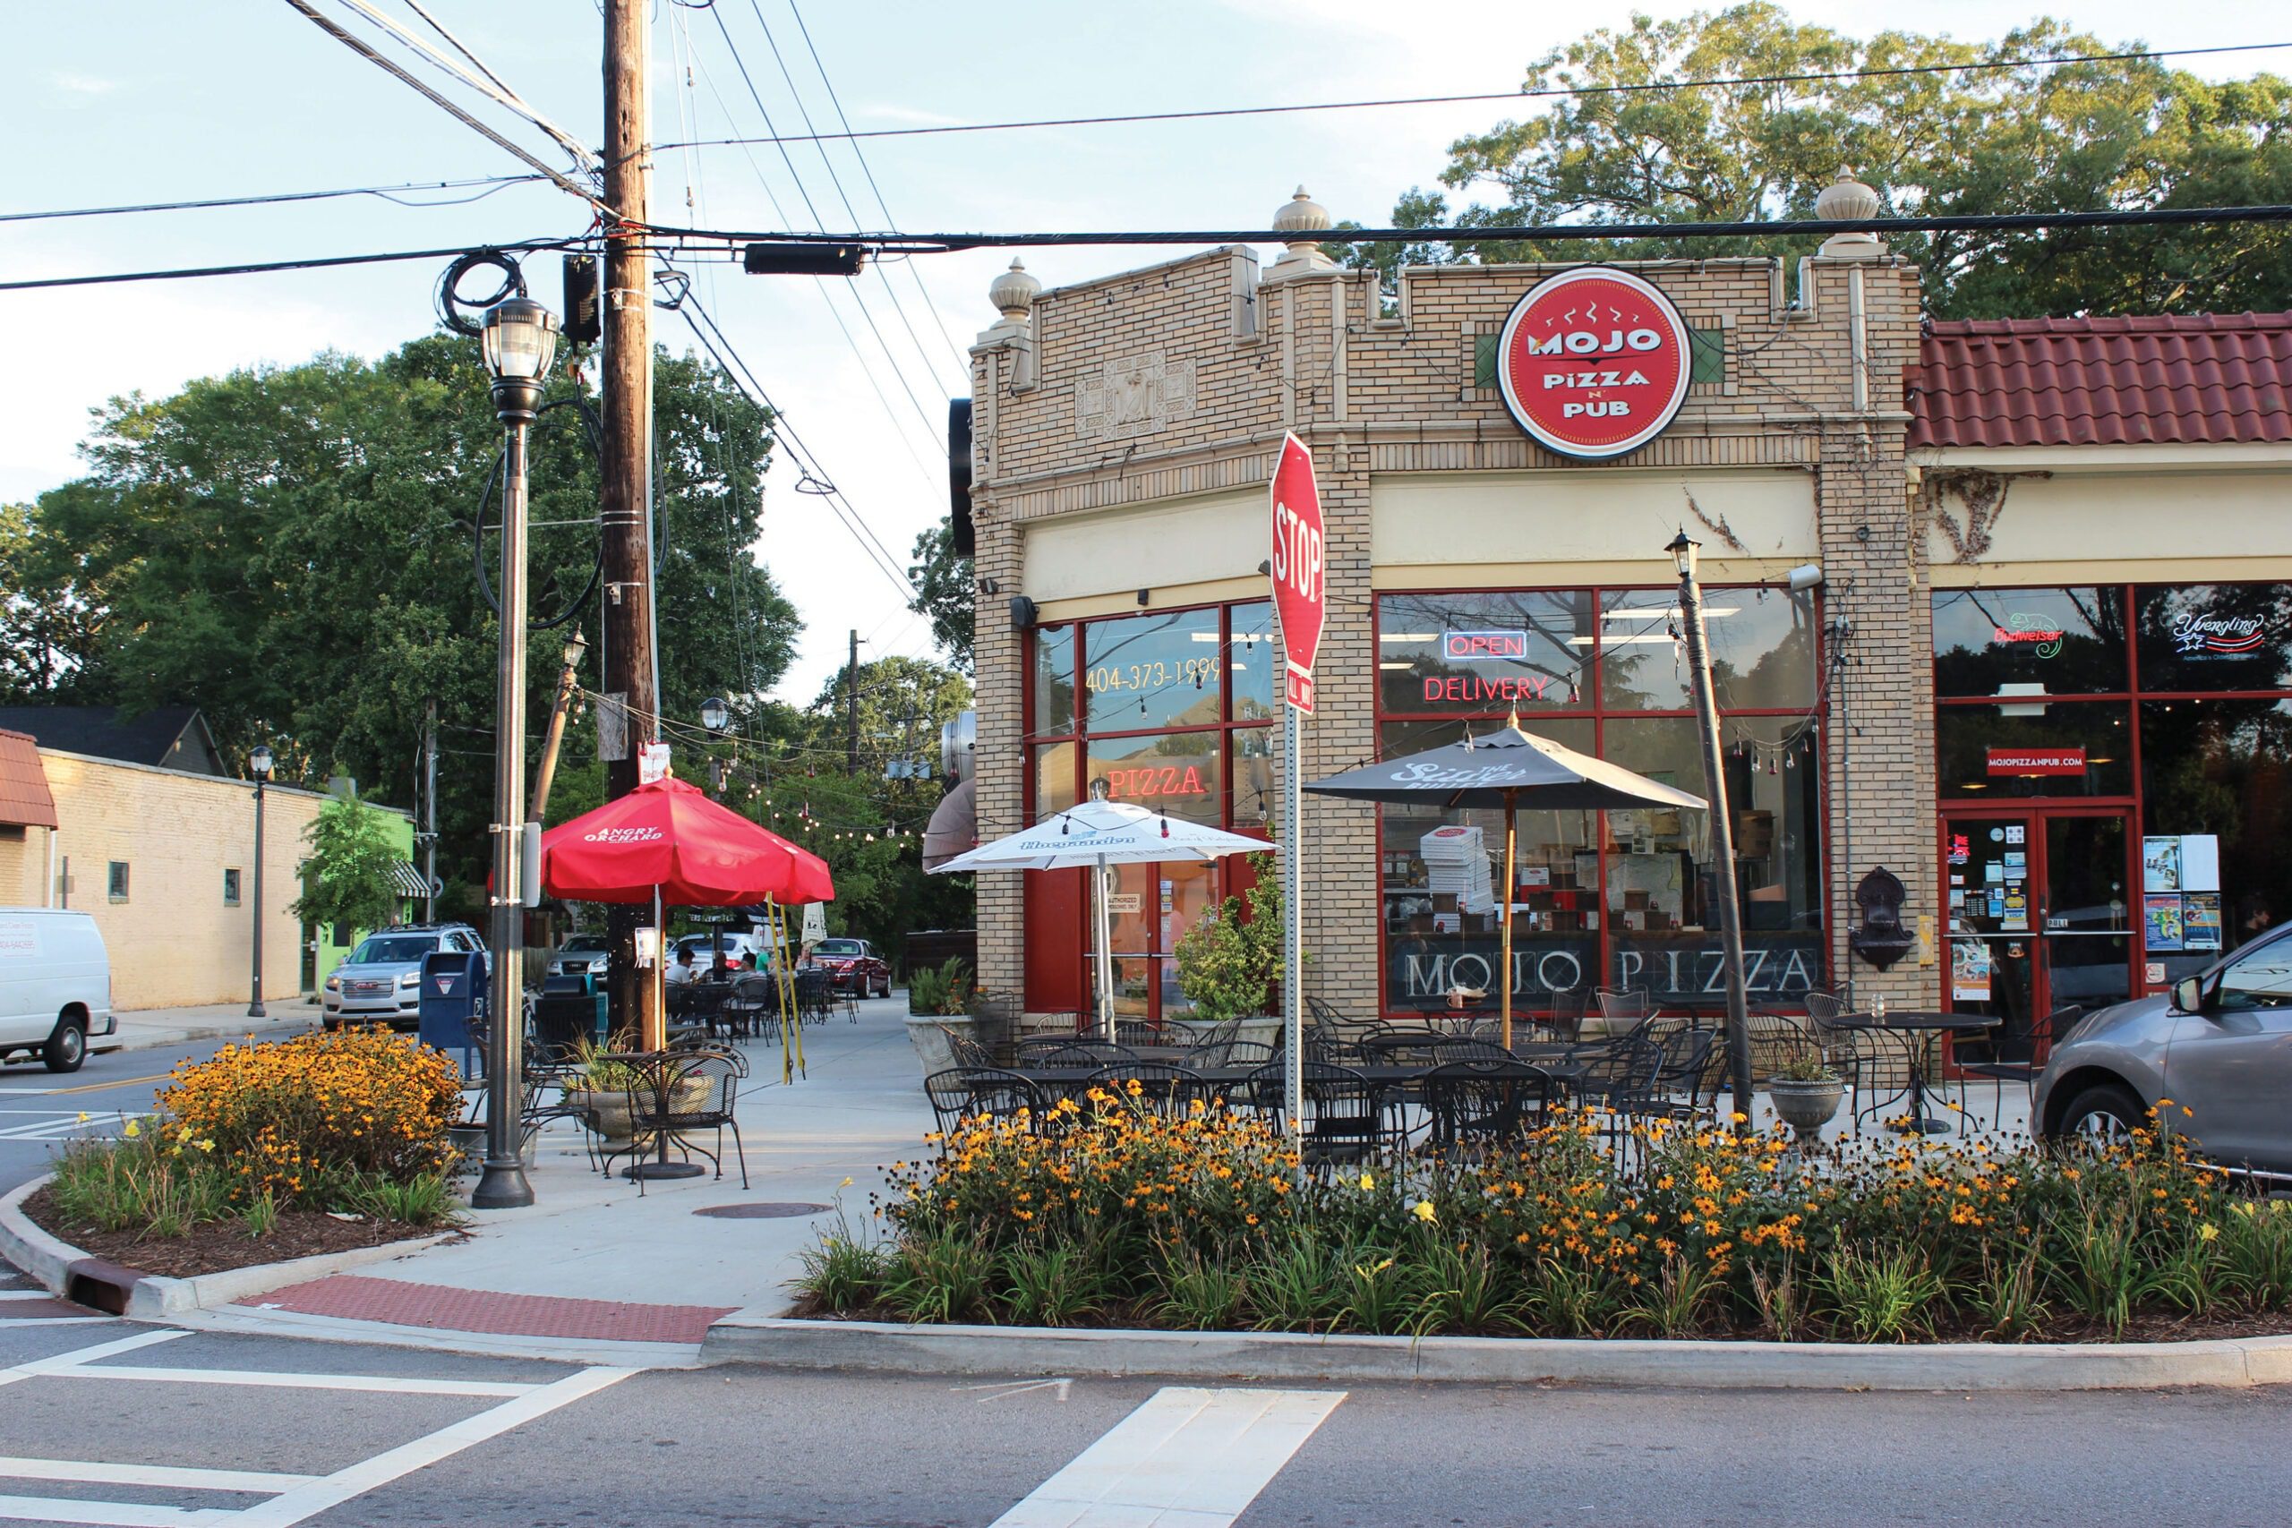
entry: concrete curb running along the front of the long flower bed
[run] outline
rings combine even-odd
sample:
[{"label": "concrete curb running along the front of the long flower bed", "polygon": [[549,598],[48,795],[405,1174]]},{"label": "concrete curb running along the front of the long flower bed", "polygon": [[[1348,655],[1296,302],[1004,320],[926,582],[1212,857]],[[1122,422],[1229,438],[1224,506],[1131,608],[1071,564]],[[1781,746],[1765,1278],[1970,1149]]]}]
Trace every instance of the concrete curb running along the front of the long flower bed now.
[{"label": "concrete curb running along the front of the long flower bed", "polygon": [[2150,1391],[2292,1384],[2292,1336],[2212,1342],[1662,1342],[1377,1338],[1290,1331],[901,1326],[727,1315],[701,1365],[905,1375],[1389,1379],[1714,1391]]}]

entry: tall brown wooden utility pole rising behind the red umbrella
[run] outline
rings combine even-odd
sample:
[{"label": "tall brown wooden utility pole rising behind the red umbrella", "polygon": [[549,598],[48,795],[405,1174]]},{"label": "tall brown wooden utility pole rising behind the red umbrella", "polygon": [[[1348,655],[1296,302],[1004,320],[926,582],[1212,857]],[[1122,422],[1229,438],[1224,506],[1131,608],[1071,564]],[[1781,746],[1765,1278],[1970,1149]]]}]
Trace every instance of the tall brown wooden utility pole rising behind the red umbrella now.
[{"label": "tall brown wooden utility pole rising behind the red umbrella", "polygon": [[[653,181],[646,0],[605,0],[605,692],[619,696],[623,756],[605,763],[605,793],[637,788],[637,749],[660,731],[653,694],[653,566],[646,483],[653,472],[653,261],[642,225]],[[656,1033],[644,1022],[653,983],[637,980],[639,907],[614,907],[612,1033]]]}]

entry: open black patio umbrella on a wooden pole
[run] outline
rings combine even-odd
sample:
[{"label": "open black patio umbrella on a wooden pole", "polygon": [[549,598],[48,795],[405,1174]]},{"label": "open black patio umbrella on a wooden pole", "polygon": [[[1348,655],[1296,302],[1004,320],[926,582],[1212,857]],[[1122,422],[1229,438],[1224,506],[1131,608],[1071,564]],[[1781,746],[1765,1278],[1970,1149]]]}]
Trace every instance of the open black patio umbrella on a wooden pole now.
[{"label": "open black patio umbrella on a wooden pole", "polygon": [[1520,728],[1515,715],[1504,731],[1467,738],[1405,758],[1345,770],[1304,786],[1316,795],[1341,795],[1357,802],[1423,802],[1435,806],[1504,809],[1504,896],[1501,896],[1501,964],[1504,964],[1504,1045],[1513,1042],[1513,873],[1517,854],[1520,809],[1529,811],[1598,811],[1634,806],[1694,806],[1701,795],[1687,795],[1646,774],[1632,774],[1604,758],[1577,754],[1549,738]]}]

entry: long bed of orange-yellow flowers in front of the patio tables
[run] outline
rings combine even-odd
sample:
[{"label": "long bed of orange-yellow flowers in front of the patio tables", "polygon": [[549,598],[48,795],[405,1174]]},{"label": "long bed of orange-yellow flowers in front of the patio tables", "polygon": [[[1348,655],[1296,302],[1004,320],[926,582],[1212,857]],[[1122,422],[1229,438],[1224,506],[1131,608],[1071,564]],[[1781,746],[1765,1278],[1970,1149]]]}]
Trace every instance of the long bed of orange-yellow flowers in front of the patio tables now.
[{"label": "long bed of orange-yellow flowers in front of the patio tables", "polygon": [[2281,1331],[2292,1205],[2177,1136],[2056,1159],[1554,1113],[1481,1161],[1297,1182],[1254,1116],[1093,1093],[894,1164],[807,1315],[1167,1329],[2093,1340]]}]

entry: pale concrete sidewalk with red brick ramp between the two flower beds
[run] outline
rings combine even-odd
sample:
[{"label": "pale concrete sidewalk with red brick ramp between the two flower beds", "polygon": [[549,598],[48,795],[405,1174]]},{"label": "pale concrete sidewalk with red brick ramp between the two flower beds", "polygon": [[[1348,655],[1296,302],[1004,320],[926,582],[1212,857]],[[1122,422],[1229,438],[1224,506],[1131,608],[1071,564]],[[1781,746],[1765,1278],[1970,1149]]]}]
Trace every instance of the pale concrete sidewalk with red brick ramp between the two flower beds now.
[{"label": "pale concrete sidewalk with red brick ramp between the two flower beds", "polygon": [[857,1024],[809,1026],[809,1074],[793,1084],[782,1084],[779,1045],[740,1042],[752,1068],[738,1100],[745,1191],[729,1134],[724,1177],[662,1180],[639,1194],[598,1175],[580,1129],[564,1123],[539,1141],[529,1210],[472,1212],[468,1237],[222,1306],[195,1324],[692,1363],[715,1317],[786,1310],[798,1255],[834,1223],[839,1196],[862,1221],[878,1168],[924,1150],[933,1120],[905,1013],[901,994],[859,1003]]}]

